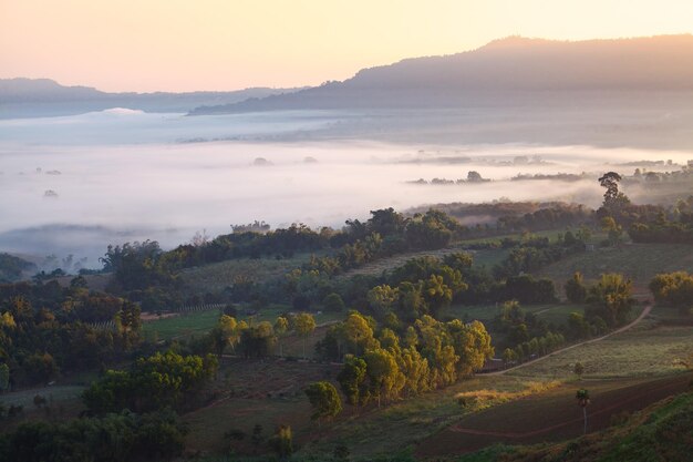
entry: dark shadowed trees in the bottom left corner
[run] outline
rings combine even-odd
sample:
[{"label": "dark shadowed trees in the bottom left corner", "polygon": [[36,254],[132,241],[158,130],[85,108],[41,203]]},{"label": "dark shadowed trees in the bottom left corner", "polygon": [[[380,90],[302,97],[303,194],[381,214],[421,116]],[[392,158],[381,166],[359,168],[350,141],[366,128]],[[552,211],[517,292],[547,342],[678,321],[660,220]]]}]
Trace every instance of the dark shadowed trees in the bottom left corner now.
[{"label": "dark shadowed trees in the bottom left corner", "polygon": [[184,450],[177,415],[130,411],[63,423],[21,423],[0,435],[0,460],[22,462],[115,462],[170,460]]}]

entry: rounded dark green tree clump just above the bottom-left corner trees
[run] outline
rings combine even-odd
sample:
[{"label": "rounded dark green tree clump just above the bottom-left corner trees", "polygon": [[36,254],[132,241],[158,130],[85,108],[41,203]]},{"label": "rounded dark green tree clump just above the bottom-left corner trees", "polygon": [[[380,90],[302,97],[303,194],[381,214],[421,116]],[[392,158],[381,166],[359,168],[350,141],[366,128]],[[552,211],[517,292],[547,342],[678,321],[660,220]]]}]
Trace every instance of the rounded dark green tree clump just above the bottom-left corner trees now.
[{"label": "rounded dark green tree clump just above the bottom-left corner trees", "polygon": [[215,377],[218,362],[207,355],[157,352],[137,359],[128,370],[107,370],[84,390],[82,399],[93,414],[125,409],[142,413],[190,407],[193,398]]}]

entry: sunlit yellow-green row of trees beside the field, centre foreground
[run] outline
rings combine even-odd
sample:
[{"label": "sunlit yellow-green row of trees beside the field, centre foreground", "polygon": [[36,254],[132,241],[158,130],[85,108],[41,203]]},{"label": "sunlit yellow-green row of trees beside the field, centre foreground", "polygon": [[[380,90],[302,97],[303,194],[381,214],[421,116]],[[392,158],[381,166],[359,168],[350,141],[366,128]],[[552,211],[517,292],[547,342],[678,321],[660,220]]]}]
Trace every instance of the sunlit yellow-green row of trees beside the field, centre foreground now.
[{"label": "sunlit yellow-green row of trees beside the field, centre foreground", "polygon": [[[386,327],[387,326],[387,327]],[[350,404],[392,401],[449,386],[493,357],[483,324],[442,322],[423,315],[392,326],[352,311],[317,345],[325,359],[344,359],[338,381]]]}]

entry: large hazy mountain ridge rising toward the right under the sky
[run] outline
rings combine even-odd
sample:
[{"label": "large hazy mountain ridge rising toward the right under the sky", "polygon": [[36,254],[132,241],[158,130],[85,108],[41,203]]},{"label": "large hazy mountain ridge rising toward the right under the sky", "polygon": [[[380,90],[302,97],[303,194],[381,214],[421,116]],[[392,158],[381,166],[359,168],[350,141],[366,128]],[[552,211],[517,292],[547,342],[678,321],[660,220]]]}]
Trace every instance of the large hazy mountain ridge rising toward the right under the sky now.
[{"label": "large hazy mountain ridge rising toward the right under the sky", "polygon": [[474,51],[407,59],[364,69],[343,82],[192,114],[580,103],[580,94],[609,99],[614,92],[693,92],[693,35],[577,42],[511,37]]}]

